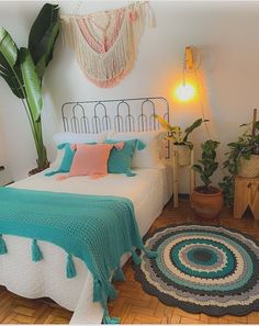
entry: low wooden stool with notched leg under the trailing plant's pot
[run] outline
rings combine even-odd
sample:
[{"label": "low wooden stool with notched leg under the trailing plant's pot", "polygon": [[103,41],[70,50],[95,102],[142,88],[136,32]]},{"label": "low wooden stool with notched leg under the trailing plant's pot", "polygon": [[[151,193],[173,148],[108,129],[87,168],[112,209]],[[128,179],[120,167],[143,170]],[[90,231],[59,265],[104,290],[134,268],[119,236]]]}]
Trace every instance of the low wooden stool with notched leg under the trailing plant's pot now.
[{"label": "low wooden stool with notched leg under the trailing plant's pot", "polygon": [[234,218],[241,218],[248,206],[255,220],[259,220],[259,178],[236,177]]}]

